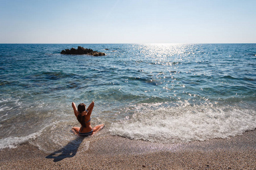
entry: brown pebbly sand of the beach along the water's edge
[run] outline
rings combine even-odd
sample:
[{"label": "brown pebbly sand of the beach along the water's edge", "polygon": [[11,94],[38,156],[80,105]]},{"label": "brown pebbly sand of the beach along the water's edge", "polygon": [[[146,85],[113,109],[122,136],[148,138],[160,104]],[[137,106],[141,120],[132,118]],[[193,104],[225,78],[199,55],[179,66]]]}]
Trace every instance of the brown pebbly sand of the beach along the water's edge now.
[{"label": "brown pebbly sand of the beach along the water's edge", "polygon": [[29,143],[1,150],[0,169],[256,169],[256,130],[228,139],[152,143],[104,135],[52,154]]}]

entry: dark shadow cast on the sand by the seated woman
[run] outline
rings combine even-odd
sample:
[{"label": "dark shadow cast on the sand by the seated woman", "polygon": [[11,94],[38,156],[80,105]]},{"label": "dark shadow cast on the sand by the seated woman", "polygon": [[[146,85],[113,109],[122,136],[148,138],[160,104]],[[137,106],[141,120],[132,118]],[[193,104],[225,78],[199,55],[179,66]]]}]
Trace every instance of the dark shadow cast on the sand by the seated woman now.
[{"label": "dark shadow cast on the sand by the seated woman", "polygon": [[76,139],[70,141],[68,145],[64,146],[58,151],[53,152],[46,156],[48,159],[53,159],[53,162],[59,162],[65,158],[71,158],[76,155],[76,152],[86,137],[77,136]]}]

